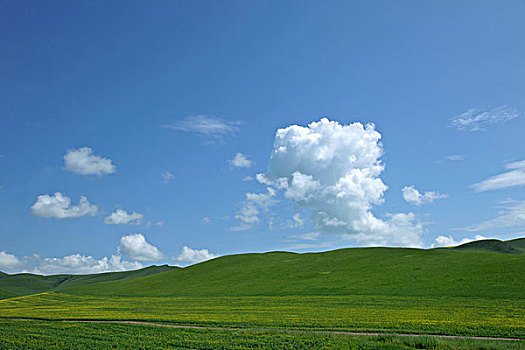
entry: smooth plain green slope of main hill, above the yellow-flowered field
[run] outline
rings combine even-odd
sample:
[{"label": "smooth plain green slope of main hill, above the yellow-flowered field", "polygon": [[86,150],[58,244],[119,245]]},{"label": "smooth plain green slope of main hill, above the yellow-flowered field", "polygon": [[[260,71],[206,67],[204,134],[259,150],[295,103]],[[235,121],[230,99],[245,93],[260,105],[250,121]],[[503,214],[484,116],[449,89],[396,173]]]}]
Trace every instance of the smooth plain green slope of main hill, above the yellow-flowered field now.
[{"label": "smooth plain green slope of main hill, above the yellow-flowered field", "polygon": [[398,295],[522,298],[525,254],[349,248],[223,256],[183,269],[67,289],[97,296]]}]

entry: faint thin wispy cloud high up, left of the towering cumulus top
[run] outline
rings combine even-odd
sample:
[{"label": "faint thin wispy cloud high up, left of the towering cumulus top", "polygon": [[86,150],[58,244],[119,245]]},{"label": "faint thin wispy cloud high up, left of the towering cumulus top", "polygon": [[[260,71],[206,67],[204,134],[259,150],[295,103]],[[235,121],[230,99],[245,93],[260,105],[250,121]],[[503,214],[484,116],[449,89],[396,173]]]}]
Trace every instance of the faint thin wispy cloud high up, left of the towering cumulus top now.
[{"label": "faint thin wispy cloud high up, left of the towering cumulus top", "polygon": [[235,134],[241,125],[243,125],[243,122],[240,120],[228,121],[200,114],[177,120],[171,124],[162,125],[162,127],[193,132],[206,138],[222,139],[225,136]]}]

